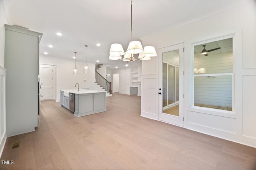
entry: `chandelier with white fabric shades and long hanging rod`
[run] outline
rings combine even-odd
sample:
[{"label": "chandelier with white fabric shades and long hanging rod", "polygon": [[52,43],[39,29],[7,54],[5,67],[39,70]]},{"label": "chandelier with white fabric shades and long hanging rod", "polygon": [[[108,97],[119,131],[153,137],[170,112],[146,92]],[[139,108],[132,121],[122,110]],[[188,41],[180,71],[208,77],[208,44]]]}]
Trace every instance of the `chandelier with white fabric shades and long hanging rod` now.
[{"label": "chandelier with white fabric shades and long hanging rod", "polygon": [[[150,60],[150,57],[156,56],[156,50],[153,46],[145,46],[144,49],[140,41],[132,41],[132,0],[131,0],[131,42],[128,45],[126,52],[121,44],[114,43],[110,47],[109,51],[110,60],[122,60],[122,61],[134,61],[134,60]],[[138,58],[135,58],[135,54],[139,54]]]}]

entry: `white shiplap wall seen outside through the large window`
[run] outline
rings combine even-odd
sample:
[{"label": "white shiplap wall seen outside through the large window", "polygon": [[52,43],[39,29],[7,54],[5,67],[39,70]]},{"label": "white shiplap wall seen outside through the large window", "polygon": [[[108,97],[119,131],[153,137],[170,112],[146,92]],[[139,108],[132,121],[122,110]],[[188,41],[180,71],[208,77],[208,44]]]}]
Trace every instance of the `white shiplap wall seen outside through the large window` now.
[{"label": "white shiplap wall seen outside through the large window", "polygon": [[[233,54],[195,56],[194,68],[205,68],[204,74],[232,73]],[[232,76],[194,77],[194,103],[232,107]]]}]

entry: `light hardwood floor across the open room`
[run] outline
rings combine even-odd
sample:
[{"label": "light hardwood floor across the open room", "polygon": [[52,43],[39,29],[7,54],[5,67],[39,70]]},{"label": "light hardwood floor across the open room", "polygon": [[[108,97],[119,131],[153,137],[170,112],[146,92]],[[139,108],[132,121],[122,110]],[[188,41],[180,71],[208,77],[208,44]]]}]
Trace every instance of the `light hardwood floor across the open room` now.
[{"label": "light hardwood floor across the open room", "polygon": [[[0,169],[255,170],[256,149],[140,117],[140,97],[114,93],[107,111],[76,117],[42,101],[40,127],[9,137]],[[18,148],[12,149],[14,142]]]}]

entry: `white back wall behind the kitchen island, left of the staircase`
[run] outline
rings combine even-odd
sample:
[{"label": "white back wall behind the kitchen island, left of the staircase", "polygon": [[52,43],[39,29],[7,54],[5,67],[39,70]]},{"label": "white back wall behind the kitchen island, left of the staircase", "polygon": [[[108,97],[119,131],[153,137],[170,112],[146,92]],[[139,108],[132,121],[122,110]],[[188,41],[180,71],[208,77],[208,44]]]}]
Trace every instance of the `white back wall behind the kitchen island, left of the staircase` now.
[{"label": "white back wall behind the kitchen island, left of the staircase", "polygon": [[[60,101],[60,90],[76,89],[75,84],[79,84],[79,88],[88,87],[91,90],[99,90],[94,84],[95,81],[95,63],[88,63],[90,72],[84,73],[84,62],[76,61],[76,67],[78,69],[78,75],[73,75],[75,61],[74,59],[60,59],[57,57],[39,57],[40,64],[56,65],[57,75],[57,90],[56,90],[56,102]],[[84,81],[86,80],[86,81]]]}]

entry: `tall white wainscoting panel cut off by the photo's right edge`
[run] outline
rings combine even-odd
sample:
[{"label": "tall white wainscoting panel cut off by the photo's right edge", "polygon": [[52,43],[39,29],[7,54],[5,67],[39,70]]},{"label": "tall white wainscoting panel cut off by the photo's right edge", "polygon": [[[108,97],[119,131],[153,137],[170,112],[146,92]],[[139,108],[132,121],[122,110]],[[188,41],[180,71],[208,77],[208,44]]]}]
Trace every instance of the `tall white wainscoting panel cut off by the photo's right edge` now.
[{"label": "tall white wainscoting panel cut off by the photo's right edge", "polygon": [[256,139],[256,76],[242,79],[242,135]]}]

